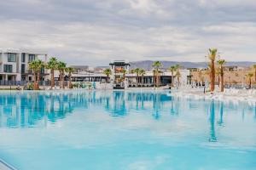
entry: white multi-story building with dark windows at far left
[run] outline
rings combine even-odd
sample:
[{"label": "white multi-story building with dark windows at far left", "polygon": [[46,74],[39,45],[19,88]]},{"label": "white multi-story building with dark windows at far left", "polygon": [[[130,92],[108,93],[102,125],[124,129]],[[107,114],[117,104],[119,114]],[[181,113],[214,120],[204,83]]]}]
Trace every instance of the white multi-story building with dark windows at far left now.
[{"label": "white multi-story building with dark windows at far left", "polygon": [[[17,49],[0,50],[0,80],[32,81],[29,63],[35,59],[47,61],[47,54]],[[41,73],[44,80],[44,69]]]}]

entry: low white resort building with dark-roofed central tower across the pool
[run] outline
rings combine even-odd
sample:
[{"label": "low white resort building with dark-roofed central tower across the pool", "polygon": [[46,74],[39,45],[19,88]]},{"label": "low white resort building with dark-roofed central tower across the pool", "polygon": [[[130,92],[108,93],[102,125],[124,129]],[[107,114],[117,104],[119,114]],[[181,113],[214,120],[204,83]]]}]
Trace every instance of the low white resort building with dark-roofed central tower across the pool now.
[{"label": "low white resort building with dark-roofed central tower across the pool", "polygon": [[[154,73],[153,71],[145,71],[143,75],[131,73],[130,63],[126,60],[113,60],[109,67],[89,67],[89,66],[76,66],[75,72],[72,74],[72,82],[107,82],[107,76],[103,73],[106,68],[111,70],[110,84],[113,88],[133,88],[133,87],[154,87]],[[84,68],[84,69],[82,69]],[[161,70],[160,86],[171,85],[186,85],[191,83],[191,75],[189,70],[179,70],[180,77],[176,77],[176,71],[173,75],[170,71]],[[173,76],[173,79],[172,79]],[[59,73],[55,71],[55,81],[59,80]],[[66,75],[65,80],[68,80]]]}]

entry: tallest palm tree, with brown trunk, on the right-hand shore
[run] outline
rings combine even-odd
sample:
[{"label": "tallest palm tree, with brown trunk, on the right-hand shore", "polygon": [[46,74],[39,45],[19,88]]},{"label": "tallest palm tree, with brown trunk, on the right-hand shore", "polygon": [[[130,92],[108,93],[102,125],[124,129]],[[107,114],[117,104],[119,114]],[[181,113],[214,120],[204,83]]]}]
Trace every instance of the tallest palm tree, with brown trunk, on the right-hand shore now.
[{"label": "tallest palm tree, with brown trunk, on the right-hand shore", "polygon": [[208,58],[210,59],[210,90],[214,91],[215,88],[215,59],[217,56],[218,49],[217,48],[209,48]]}]

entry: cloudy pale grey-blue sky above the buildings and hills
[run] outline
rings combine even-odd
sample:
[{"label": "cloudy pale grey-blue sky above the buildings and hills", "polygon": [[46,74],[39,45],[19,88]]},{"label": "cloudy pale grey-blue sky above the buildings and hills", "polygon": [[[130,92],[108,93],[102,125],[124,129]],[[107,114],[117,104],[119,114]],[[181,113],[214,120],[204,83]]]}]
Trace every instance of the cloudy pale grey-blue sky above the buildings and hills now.
[{"label": "cloudy pale grey-blue sky above the buildings and hills", "polygon": [[68,64],[111,59],[256,61],[255,0],[0,0],[0,48]]}]

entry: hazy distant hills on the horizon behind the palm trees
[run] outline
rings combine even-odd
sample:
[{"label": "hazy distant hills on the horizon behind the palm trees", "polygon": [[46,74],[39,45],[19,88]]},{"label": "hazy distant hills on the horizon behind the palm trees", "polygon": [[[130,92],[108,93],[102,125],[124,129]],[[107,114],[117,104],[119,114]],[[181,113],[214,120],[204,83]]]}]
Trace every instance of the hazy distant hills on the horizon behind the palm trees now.
[{"label": "hazy distant hills on the horizon behind the palm trees", "polygon": [[[160,61],[163,65],[163,68],[169,68],[171,65],[181,65],[183,68],[206,68],[207,62],[178,62],[178,61]],[[143,60],[143,61],[133,61],[130,62],[131,68],[143,68],[145,71],[152,70],[153,60]],[[238,65],[243,67],[249,67],[256,64],[256,62],[249,61],[236,61],[236,62],[227,62],[227,65]]]}]

